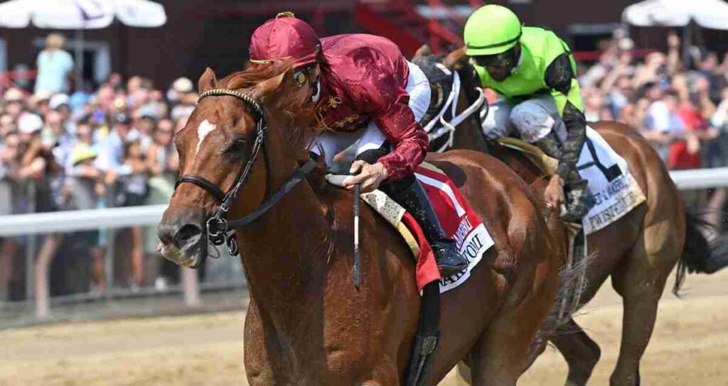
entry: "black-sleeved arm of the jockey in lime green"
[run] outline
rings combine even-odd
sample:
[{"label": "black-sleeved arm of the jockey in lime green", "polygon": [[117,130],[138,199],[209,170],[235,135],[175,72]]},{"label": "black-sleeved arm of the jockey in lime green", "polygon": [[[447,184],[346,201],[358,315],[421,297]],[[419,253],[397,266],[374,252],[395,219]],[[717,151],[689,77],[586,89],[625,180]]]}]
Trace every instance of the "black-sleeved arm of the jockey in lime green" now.
[{"label": "black-sleeved arm of the jockey in lime green", "polygon": [[584,102],[569,56],[568,52],[558,55],[545,71],[546,84],[551,89],[551,95],[556,102],[567,132],[556,169],[562,178],[565,178],[572,170],[576,171],[579,153],[581,153],[586,135]]}]

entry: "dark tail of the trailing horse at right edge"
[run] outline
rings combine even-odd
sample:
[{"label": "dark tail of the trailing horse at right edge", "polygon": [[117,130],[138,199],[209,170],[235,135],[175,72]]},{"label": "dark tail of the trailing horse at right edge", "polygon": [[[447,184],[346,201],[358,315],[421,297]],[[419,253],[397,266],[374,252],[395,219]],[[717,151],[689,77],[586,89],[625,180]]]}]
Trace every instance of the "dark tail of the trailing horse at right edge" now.
[{"label": "dark tail of the trailing horse at right edge", "polygon": [[676,296],[680,296],[681,286],[688,273],[715,273],[728,265],[728,239],[716,237],[708,241],[705,233],[716,231],[715,227],[695,213],[686,211],[685,217],[685,246],[673,285],[673,294]]}]

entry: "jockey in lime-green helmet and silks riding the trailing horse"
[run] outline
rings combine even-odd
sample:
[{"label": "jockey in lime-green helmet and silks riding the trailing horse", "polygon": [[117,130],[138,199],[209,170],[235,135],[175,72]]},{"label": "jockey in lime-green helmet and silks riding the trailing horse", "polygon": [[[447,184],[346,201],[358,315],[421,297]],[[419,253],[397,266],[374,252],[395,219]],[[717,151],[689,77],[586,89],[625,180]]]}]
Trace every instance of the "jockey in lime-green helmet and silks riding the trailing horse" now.
[{"label": "jockey in lime-green helmet and silks riding the trailing horse", "polygon": [[557,158],[546,201],[564,204],[563,220],[581,222],[593,198],[577,173],[586,119],[569,47],[555,33],[524,27],[510,9],[493,4],[470,15],[464,40],[480,83],[501,97],[483,117],[483,132],[493,139],[520,135]]}]

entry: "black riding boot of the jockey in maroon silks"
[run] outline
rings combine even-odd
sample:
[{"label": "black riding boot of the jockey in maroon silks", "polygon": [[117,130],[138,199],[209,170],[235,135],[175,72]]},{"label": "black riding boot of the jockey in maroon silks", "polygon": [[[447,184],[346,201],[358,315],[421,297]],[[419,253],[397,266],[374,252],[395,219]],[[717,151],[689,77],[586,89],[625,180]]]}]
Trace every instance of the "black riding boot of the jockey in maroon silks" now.
[{"label": "black riding boot of the jockey in maroon silks", "polygon": [[409,188],[385,193],[397,201],[397,204],[403,206],[422,227],[424,237],[432,246],[435,260],[438,261],[440,275],[453,276],[467,268],[467,259],[457,252],[455,241],[446,236],[445,231],[440,227],[440,220],[438,220],[435,210],[432,209],[430,198],[427,197],[427,193],[424,193],[422,185],[419,185],[416,179]]}]

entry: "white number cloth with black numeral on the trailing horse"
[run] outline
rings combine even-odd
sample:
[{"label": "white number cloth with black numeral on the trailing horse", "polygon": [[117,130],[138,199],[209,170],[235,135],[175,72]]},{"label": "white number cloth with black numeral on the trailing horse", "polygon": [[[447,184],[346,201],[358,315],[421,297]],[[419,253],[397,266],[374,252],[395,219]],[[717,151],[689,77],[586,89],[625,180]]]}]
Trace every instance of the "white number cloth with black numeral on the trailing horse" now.
[{"label": "white number cloth with black numeral on the trailing horse", "polygon": [[[555,172],[558,161],[545,156],[534,145],[514,138],[502,138],[498,142],[523,151],[547,174]],[[577,169],[579,175],[588,181],[589,191],[596,200],[596,205],[582,220],[586,235],[619,220],[646,200],[637,181],[630,174],[625,158],[612,150],[604,138],[589,126]]]}]

